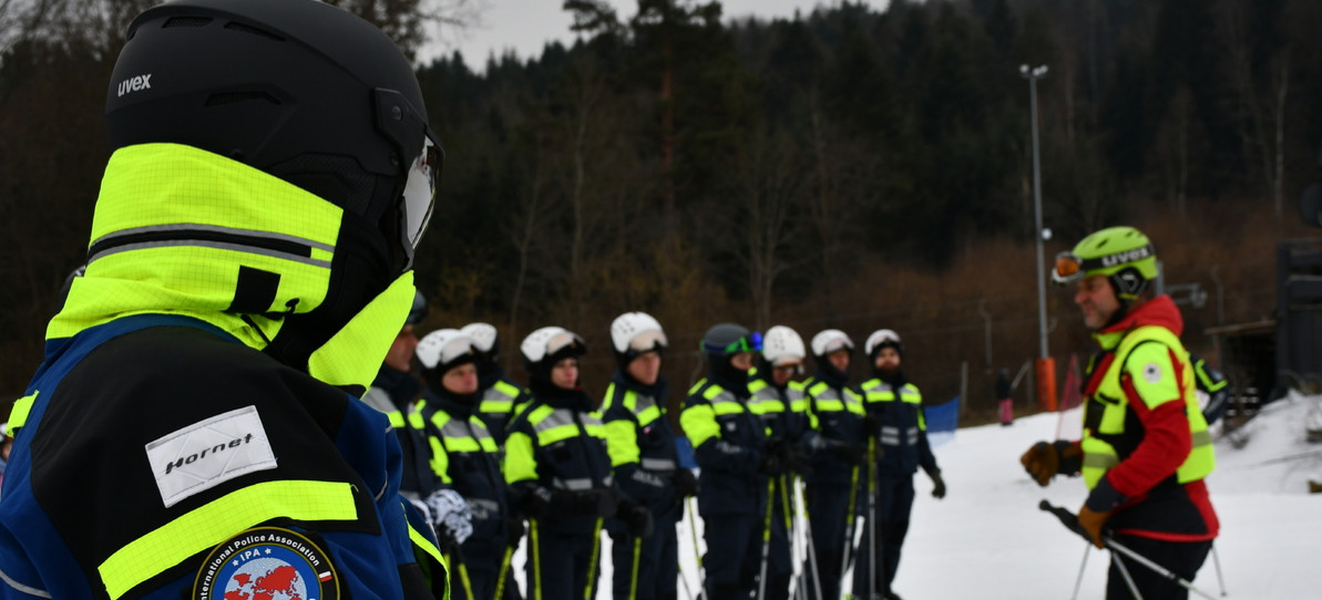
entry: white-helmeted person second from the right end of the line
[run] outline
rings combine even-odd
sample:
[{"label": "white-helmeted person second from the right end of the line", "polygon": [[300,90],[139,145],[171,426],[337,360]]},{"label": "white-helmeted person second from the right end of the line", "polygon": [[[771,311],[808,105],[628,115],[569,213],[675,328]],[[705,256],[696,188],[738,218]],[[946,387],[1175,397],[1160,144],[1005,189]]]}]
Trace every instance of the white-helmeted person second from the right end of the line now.
[{"label": "white-helmeted person second from the right end of the line", "polygon": [[[809,472],[804,477],[805,501],[822,597],[836,599],[850,560],[854,517],[863,500],[858,493],[865,474],[859,469],[866,449],[863,398],[849,383],[854,341],[845,332],[818,332],[813,336],[812,352],[816,369],[805,389],[814,435]],[[816,584],[809,587],[814,593],[816,588]]]}]

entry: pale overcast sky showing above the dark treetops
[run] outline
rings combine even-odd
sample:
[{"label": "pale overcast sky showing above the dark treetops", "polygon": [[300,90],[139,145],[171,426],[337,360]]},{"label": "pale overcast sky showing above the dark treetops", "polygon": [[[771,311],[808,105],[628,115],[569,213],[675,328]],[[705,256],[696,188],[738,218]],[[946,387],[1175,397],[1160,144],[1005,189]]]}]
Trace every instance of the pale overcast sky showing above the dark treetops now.
[{"label": "pale overcast sky showing above the dark treetops", "polygon": [[[542,46],[551,40],[561,40],[564,44],[572,42],[570,33],[570,15],[561,7],[563,0],[485,0],[486,11],[483,16],[483,25],[467,30],[461,40],[443,45],[434,45],[434,49],[424,50],[424,54],[451,53],[459,50],[464,54],[464,62],[469,67],[481,70],[486,65],[486,57],[492,53],[502,53],[513,49],[520,58],[539,56]],[[611,0],[621,20],[629,19],[637,11],[636,0]],[[751,15],[763,19],[791,17],[795,9],[808,16],[813,7],[818,4],[834,5],[839,0],[723,0],[723,19],[742,19]],[[887,0],[866,0],[880,9]],[[419,57],[430,59],[430,56]]]}]

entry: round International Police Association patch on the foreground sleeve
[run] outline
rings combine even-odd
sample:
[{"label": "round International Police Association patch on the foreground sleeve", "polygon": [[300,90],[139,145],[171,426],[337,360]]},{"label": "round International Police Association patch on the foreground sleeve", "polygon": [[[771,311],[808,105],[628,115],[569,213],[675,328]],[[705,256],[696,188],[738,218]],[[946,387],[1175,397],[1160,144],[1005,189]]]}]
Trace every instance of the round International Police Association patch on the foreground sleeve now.
[{"label": "round International Police Association patch on the foreground sleeve", "polygon": [[330,555],[299,533],[255,527],[212,550],[193,580],[193,600],[336,600]]}]

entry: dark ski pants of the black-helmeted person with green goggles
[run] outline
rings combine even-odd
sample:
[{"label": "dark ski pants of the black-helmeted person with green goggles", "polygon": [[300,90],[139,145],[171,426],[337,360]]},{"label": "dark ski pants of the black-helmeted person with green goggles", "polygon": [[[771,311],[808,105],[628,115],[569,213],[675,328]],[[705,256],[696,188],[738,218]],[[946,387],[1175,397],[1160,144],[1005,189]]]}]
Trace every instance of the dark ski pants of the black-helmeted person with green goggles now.
[{"label": "dark ski pants of the black-helmeted person with green goggles", "polygon": [[722,513],[702,517],[707,554],[707,597],[747,599],[758,591],[761,570],[761,527],[765,514]]}]

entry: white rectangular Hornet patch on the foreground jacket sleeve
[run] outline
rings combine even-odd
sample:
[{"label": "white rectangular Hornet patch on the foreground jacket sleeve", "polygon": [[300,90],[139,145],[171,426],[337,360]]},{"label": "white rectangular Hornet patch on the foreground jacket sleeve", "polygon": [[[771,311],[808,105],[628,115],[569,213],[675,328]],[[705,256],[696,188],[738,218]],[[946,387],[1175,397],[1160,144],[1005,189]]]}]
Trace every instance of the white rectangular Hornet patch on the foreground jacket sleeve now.
[{"label": "white rectangular Hornet patch on the foreground jacket sleeve", "polygon": [[255,406],[168,433],[147,444],[147,460],[165,506],[241,474],[276,467]]}]

